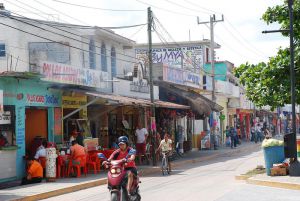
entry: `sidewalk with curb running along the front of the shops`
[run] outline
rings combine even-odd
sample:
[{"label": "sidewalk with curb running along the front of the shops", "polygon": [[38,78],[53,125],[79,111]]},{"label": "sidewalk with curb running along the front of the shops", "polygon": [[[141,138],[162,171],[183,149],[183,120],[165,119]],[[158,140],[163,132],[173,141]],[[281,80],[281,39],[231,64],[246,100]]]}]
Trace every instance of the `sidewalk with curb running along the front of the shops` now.
[{"label": "sidewalk with curb running along the front of the shops", "polygon": [[[182,158],[173,161],[173,168],[185,165],[198,163],[208,160],[213,160],[217,157],[229,156],[235,153],[249,153],[250,151],[259,150],[260,145],[253,143],[243,143],[237,149],[227,147],[218,150],[201,150],[191,151],[186,153]],[[160,172],[160,167],[154,166],[139,166],[139,174],[143,177],[149,174]],[[86,188],[91,188],[107,183],[106,172],[100,174],[89,174],[87,177],[81,178],[65,178],[57,179],[56,182],[43,182],[41,184],[18,186],[0,190],[0,200],[40,200],[57,195],[62,195]]]}]

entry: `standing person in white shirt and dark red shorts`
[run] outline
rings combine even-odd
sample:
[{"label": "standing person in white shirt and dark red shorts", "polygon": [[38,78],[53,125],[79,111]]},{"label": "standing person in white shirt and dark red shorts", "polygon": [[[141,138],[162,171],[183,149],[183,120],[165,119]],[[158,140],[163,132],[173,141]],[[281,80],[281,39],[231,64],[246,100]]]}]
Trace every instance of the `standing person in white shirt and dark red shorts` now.
[{"label": "standing person in white shirt and dark red shorts", "polygon": [[146,128],[142,128],[139,123],[135,131],[136,136],[136,150],[139,157],[139,164],[142,164],[142,155],[145,155],[146,152],[146,142],[148,137],[148,131]]}]

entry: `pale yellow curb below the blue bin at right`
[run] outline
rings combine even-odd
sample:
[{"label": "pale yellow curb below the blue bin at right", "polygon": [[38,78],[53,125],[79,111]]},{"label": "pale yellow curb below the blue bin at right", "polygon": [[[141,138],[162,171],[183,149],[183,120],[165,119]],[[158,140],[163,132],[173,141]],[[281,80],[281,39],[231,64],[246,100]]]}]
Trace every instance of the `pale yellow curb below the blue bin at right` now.
[{"label": "pale yellow curb below the blue bin at right", "polygon": [[260,186],[275,187],[275,188],[284,188],[289,190],[300,190],[300,184],[287,183],[287,182],[263,181],[254,178],[249,178],[246,180],[246,183],[260,185]]}]

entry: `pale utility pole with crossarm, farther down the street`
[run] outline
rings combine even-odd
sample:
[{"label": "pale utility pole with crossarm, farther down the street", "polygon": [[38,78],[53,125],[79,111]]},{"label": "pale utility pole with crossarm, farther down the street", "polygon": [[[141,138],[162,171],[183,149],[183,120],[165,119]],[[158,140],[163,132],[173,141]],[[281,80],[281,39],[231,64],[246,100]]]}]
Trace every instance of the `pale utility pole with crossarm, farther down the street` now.
[{"label": "pale utility pole with crossarm, farther down the street", "polygon": [[[215,15],[211,15],[209,18],[209,22],[200,22],[199,17],[197,18],[198,24],[209,24],[210,29],[210,62],[211,62],[211,77],[212,77],[212,93],[211,98],[212,101],[216,103],[216,96],[215,96],[215,41],[214,41],[214,25],[217,22],[223,22],[224,15],[222,15],[221,20],[216,20]],[[213,114],[213,113],[212,113]],[[212,115],[212,124],[214,124],[214,115]],[[212,125],[213,126],[213,125]]]}]

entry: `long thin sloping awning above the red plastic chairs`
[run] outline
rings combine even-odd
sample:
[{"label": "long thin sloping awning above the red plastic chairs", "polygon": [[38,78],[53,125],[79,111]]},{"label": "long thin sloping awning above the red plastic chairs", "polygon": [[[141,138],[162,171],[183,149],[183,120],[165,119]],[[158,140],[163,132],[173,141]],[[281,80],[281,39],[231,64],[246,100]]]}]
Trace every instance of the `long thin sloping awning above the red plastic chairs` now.
[{"label": "long thin sloping awning above the red plastic chairs", "polygon": [[[150,107],[152,105],[151,101],[148,99],[141,99],[141,98],[131,98],[127,96],[120,96],[114,94],[103,94],[103,93],[85,93],[88,96],[94,96],[97,98],[102,98],[110,101],[116,102],[116,104],[120,105],[129,105],[129,106],[142,106],[142,107]],[[166,101],[155,100],[154,101],[155,107],[161,108],[171,108],[171,109],[190,109],[187,105],[180,105],[176,103],[170,103]]]}]

